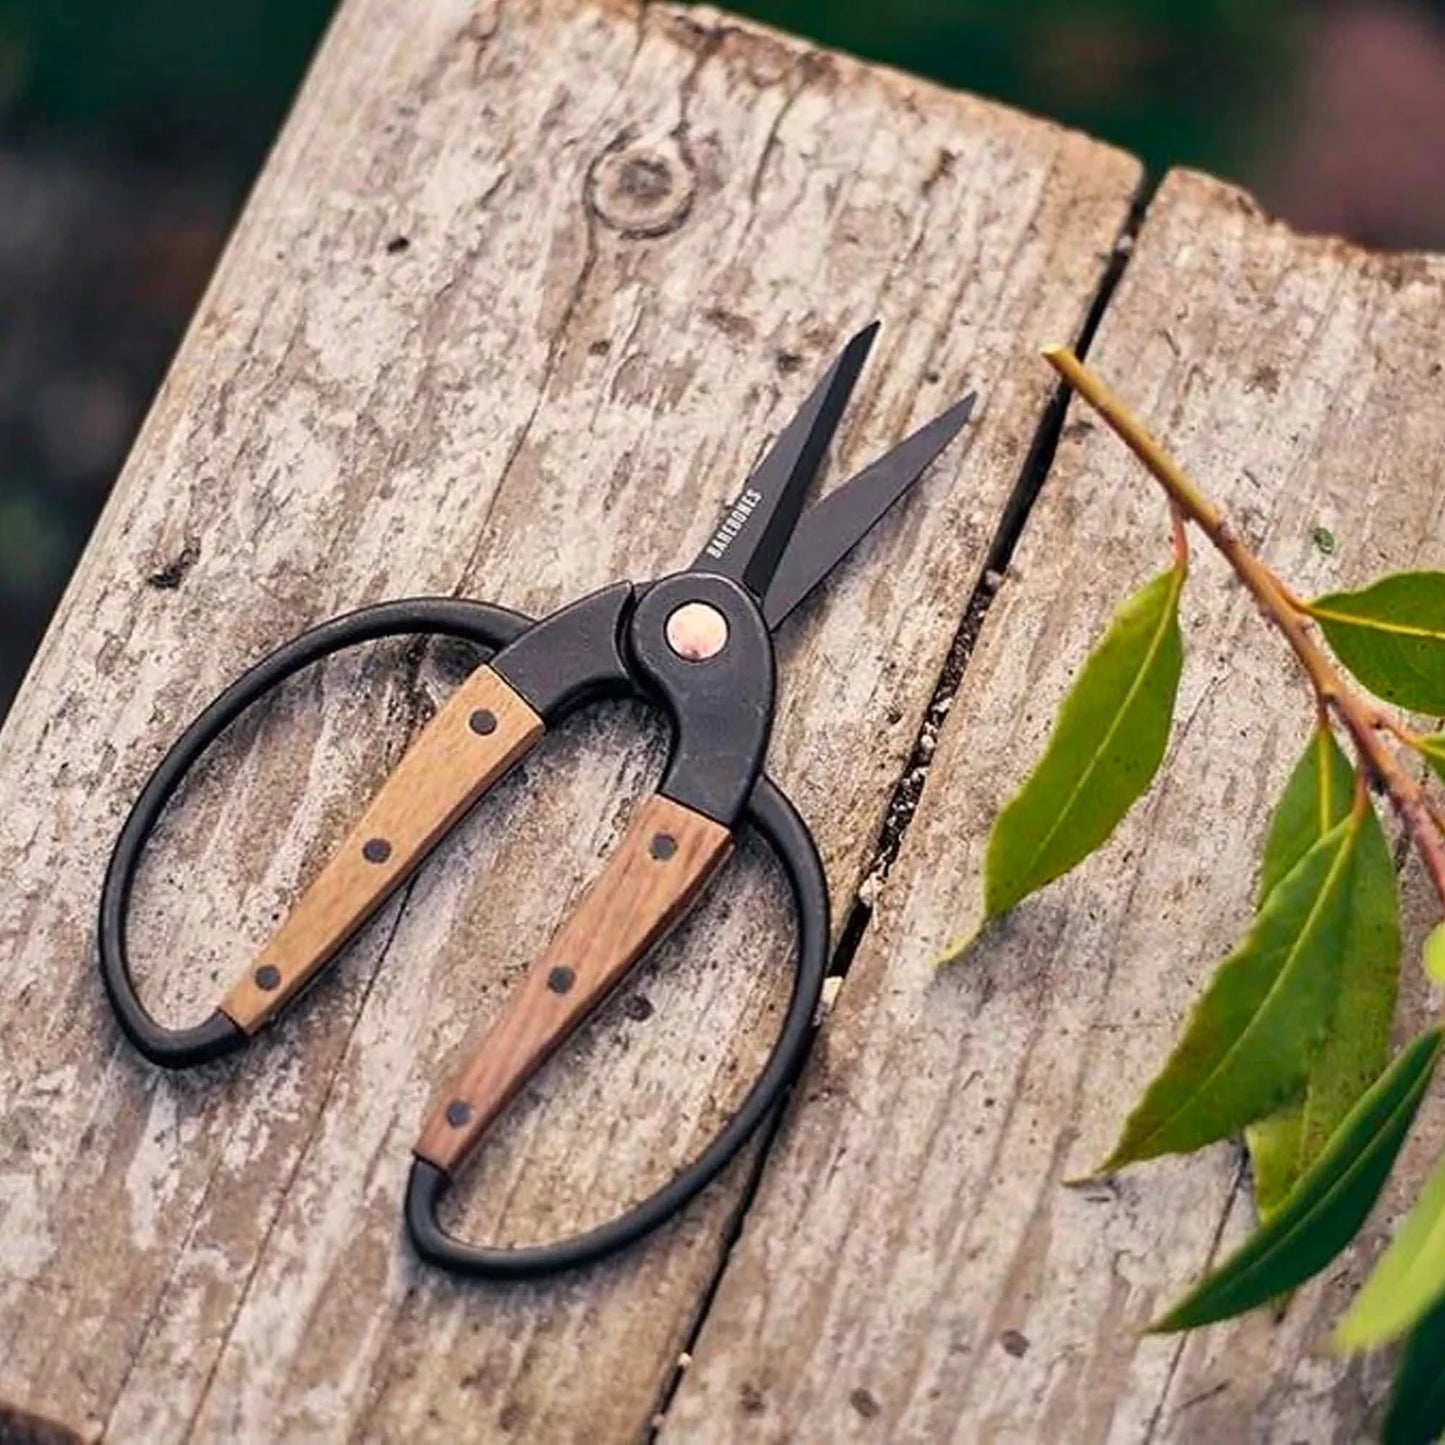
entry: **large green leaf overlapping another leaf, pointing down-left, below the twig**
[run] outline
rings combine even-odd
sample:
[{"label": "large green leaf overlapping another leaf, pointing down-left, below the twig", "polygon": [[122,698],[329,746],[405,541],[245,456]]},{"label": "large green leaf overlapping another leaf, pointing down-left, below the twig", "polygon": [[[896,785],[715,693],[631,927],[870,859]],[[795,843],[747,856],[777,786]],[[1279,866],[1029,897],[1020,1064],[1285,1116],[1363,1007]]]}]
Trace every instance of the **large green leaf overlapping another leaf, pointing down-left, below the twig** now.
[{"label": "large green leaf overlapping another leaf, pointing down-left, below the twig", "polygon": [[1225,1139],[1303,1085],[1335,1007],[1361,824],[1335,824],[1264,900],[1101,1172]]}]

